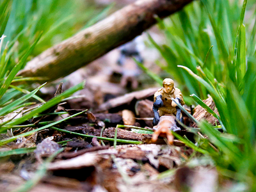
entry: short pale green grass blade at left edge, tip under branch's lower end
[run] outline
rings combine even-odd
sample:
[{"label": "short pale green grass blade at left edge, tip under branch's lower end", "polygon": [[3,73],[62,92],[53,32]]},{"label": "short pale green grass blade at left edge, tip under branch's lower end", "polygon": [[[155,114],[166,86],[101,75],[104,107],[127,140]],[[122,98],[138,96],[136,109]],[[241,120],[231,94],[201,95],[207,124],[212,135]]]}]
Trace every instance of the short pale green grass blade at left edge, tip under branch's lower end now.
[{"label": "short pale green grass blade at left edge, tip under branch's lower end", "polygon": [[24,102],[24,101],[28,100],[29,98],[33,97],[33,95],[35,95],[35,93],[38,92],[38,90],[40,90],[40,88],[42,88],[45,84],[46,83],[42,84],[41,86],[39,86],[38,88],[33,90],[33,92],[30,92],[27,95],[24,95],[23,97],[20,97],[19,99],[13,101],[11,104],[8,104],[8,106],[5,106],[4,108],[0,109],[0,116],[3,116],[3,115],[6,115],[7,113],[10,113],[10,111],[12,111],[13,108],[15,108],[15,106],[18,106],[22,102]]}]

